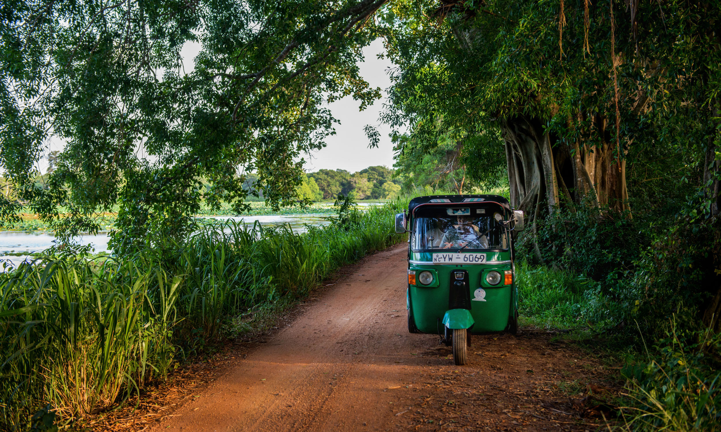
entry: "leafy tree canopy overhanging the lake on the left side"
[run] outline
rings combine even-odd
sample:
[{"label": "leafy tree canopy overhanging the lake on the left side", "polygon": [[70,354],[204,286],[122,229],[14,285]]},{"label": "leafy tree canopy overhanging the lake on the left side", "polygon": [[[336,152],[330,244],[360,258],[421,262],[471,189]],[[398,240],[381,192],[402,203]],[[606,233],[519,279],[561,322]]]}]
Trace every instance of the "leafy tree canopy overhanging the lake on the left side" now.
[{"label": "leafy tree canopy overhanging the lake on the left side", "polygon": [[[112,246],[123,251],[149,234],[182,235],[201,198],[242,210],[249,171],[270,204],[290,202],[301,155],[334,133],[324,104],[379,97],[356,62],[382,4],[4,2],[0,168],[17,193],[0,198],[4,221],[20,202],[45,219],[66,204],[71,217],[56,228],[92,231],[95,212],[117,202]],[[187,42],[201,47],[189,73]],[[38,189],[30,180],[51,134],[67,145]]]}]

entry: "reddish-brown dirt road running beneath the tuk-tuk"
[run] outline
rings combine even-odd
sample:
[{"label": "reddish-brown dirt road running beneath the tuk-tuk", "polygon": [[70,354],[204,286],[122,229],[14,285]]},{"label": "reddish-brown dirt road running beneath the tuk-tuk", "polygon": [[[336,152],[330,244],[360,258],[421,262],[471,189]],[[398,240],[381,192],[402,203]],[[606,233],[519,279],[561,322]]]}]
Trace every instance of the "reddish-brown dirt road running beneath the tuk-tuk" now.
[{"label": "reddish-brown dirt road running beneath the tuk-tuk", "polygon": [[[474,336],[454,366],[406,320],[407,245],[363,258],[155,431],[593,430],[559,383],[603,379],[552,335]],[[570,385],[570,384],[569,384]],[[565,387],[561,387],[565,388]],[[583,396],[583,395],[581,395]],[[575,399],[580,400],[576,395]],[[410,428],[410,429],[409,429]]]}]

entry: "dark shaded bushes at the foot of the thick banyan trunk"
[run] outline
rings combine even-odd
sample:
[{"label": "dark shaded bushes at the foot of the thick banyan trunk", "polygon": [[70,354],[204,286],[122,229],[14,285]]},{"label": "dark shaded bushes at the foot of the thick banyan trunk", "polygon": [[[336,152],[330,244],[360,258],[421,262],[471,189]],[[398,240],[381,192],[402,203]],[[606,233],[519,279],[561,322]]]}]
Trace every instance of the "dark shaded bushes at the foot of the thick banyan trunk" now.
[{"label": "dark shaded bushes at the foot of the thick banyan trunk", "polygon": [[704,315],[704,301],[717,294],[720,279],[718,222],[650,217],[655,212],[629,220],[593,206],[572,210],[539,221],[536,233],[531,226],[517,243],[518,254],[538,262],[540,253],[544,264],[598,282],[598,313],[605,310],[619,328],[637,320],[653,336],[679,308],[717,325],[713,303]]}]

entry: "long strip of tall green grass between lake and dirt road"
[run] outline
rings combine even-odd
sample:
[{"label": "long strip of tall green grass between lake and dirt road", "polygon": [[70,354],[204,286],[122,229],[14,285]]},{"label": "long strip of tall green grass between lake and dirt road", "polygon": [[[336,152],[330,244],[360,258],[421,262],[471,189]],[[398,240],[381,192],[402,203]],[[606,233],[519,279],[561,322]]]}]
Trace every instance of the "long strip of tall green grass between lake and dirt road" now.
[{"label": "long strip of tall green grass between lake and dirt road", "polygon": [[218,222],[131,256],[46,255],[0,274],[0,430],[25,430],[48,411],[72,421],[137,395],[167,375],[178,348],[402,240],[393,215],[404,204],[349,210],[353,223],[303,234]]}]

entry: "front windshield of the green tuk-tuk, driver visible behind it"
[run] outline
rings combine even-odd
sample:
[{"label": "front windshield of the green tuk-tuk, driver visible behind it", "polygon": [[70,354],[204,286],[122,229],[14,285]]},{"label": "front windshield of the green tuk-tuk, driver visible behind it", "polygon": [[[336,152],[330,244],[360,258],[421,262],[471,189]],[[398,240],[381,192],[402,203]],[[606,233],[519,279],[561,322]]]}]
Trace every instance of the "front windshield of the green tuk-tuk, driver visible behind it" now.
[{"label": "front windshield of the green tuk-tuk, driver visible behind it", "polygon": [[503,225],[490,215],[417,217],[411,248],[414,251],[508,249],[508,238]]}]

